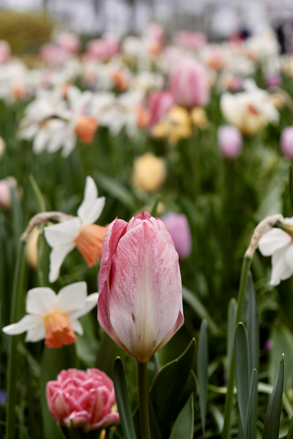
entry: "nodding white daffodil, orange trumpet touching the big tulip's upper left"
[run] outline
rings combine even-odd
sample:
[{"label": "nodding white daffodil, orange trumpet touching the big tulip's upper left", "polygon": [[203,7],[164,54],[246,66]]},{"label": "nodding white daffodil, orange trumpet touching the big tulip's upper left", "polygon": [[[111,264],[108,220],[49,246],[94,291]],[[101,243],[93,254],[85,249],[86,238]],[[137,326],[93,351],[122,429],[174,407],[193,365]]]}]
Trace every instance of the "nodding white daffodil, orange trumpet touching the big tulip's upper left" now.
[{"label": "nodding white daffodil, orange trumpet touching the big tulip's upper left", "polygon": [[50,282],[56,281],[65,256],[74,247],[83,255],[89,267],[94,266],[100,258],[107,227],[93,223],[101,215],[104,205],[105,197],[98,197],[94,180],[87,176],[84,198],[77,210],[77,216],[44,228],[47,243],[52,247],[50,253]]}]

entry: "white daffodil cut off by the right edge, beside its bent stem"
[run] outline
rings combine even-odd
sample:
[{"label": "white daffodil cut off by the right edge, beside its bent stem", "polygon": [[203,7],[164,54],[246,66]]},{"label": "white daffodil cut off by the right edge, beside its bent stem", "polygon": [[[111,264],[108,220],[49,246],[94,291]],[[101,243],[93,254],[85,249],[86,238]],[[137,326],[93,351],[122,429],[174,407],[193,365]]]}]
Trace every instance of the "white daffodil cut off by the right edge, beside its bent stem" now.
[{"label": "white daffodil cut off by the right edge, beside its bent stem", "polygon": [[258,248],[262,255],[271,256],[271,285],[279,285],[292,276],[293,217],[284,219],[283,230],[273,228],[260,237]]}]

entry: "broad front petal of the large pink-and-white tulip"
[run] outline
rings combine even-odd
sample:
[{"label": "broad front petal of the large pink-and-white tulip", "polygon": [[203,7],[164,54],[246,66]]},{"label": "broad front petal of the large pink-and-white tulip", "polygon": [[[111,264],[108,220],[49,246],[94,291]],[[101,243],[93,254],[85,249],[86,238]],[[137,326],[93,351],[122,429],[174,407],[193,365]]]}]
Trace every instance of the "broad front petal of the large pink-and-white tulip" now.
[{"label": "broad front petal of the large pink-and-white tulip", "polygon": [[182,309],[178,254],[159,230],[142,222],[119,240],[112,266],[111,324],[144,362],[172,332]]}]

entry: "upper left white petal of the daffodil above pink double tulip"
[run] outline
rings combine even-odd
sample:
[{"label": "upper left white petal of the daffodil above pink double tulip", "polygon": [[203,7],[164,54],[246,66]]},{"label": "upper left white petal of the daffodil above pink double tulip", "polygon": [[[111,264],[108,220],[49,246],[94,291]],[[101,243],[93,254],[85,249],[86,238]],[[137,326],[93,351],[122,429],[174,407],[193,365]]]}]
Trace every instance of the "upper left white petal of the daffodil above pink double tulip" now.
[{"label": "upper left white petal of the daffodil above pink double tulip", "polygon": [[26,295],[25,310],[29,314],[45,316],[54,310],[56,297],[55,292],[51,288],[33,288]]}]

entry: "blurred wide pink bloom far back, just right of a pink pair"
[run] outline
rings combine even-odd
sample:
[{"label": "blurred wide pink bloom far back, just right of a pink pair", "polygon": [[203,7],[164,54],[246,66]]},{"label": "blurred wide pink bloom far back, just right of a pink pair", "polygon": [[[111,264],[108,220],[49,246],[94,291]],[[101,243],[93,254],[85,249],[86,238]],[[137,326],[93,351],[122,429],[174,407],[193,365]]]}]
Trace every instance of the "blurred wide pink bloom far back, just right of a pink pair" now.
[{"label": "blurred wide pink bloom far back, just right of a pink pair", "polygon": [[115,37],[101,38],[100,40],[92,40],[87,45],[87,53],[85,58],[87,61],[101,60],[105,61],[112,56],[119,54],[120,44]]}]

